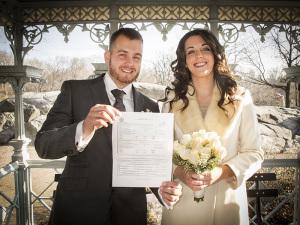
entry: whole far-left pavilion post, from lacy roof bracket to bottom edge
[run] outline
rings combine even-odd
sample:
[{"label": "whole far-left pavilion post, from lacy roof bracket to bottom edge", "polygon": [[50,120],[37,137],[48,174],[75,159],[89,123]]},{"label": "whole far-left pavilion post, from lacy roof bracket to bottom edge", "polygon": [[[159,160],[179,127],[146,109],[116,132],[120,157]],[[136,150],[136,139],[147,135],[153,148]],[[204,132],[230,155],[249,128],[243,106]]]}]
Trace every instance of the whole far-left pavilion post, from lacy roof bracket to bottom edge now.
[{"label": "whole far-left pavilion post, from lacy roof bracket to bottom edge", "polygon": [[30,79],[26,77],[26,68],[23,66],[24,49],[21,8],[13,9],[13,23],[5,27],[10,35],[10,47],[14,55],[14,66],[3,66],[0,71],[1,80],[9,82],[15,94],[15,138],[9,144],[14,147],[12,162],[18,163],[15,172],[15,195],[17,196],[16,222],[17,225],[29,225],[29,206],[31,201],[28,193],[28,180],[26,178],[26,160],[29,159],[28,144],[30,139],[25,136],[24,108],[23,108],[23,87]]}]

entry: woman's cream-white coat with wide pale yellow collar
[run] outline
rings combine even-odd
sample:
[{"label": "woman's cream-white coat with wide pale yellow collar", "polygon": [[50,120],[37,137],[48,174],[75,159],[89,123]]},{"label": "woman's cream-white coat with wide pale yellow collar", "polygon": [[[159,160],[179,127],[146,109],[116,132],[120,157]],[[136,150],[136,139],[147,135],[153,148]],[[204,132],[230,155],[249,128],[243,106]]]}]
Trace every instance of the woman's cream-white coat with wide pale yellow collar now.
[{"label": "woman's cream-white coat with wide pale yellow collar", "polygon": [[[182,183],[183,195],[173,210],[164,210],[162,225],[249,224],[246,180],[263,161],[255,108],[249,91],[239,87],[235,104],[226,105],[225,100],[225,113],[217,105],[220,92],[216,86],[204,118],[195,95],[187,94],[189,106],[183,112],[181,101],[173,104],[175,138],[199,129],[217,132],[226,148],[222,163],[232,169],[235,179],[223,179],[205,188],[204,201],[200,203],[194,202],[193,191]],[[162,111],[169,109],[167,102]]]}]

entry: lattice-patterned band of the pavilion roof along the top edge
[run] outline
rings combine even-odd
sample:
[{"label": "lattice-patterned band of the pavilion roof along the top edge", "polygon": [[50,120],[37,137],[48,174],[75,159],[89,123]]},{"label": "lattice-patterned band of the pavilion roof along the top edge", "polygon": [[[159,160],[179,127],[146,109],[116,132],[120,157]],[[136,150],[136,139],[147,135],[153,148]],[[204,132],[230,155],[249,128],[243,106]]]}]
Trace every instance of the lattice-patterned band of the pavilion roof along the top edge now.
[{"label": "lattice-patterned band of the pavilion roof along the top edge", "polygon": [[0,25],[145,21],[300,23],[299,0],[1,0]]}]

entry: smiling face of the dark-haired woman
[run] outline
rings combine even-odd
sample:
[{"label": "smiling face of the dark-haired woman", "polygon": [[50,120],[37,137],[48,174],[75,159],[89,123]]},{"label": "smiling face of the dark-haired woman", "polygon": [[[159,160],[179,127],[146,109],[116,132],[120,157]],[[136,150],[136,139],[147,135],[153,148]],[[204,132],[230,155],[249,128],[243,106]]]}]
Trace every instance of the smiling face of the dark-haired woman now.
[{"label": "smiling face of the dark-haired woman", "polygon": [[192,78],[213,77],[214,55],[210,46],[199,35],[185,41],[186,66]]}]

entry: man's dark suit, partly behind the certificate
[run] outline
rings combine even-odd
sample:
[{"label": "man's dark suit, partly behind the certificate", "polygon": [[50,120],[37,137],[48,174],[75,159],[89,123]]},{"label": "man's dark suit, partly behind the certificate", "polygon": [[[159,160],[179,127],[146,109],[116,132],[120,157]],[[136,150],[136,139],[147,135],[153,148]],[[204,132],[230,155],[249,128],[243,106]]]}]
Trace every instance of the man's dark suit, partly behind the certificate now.
[{"label": "man's dark suit, partly behind the certificate", "polygon": [[[133,98],[134,111],[159,111],[155,102],[134,88]],[[67,156],[49,224],[146,225],[145,189],[112,188],[111,126],[98,129],[83,152],[76,148],[76,126],[95,104],[110,105],[103,76],[64,82],[36,136],[41,158]]]}]

